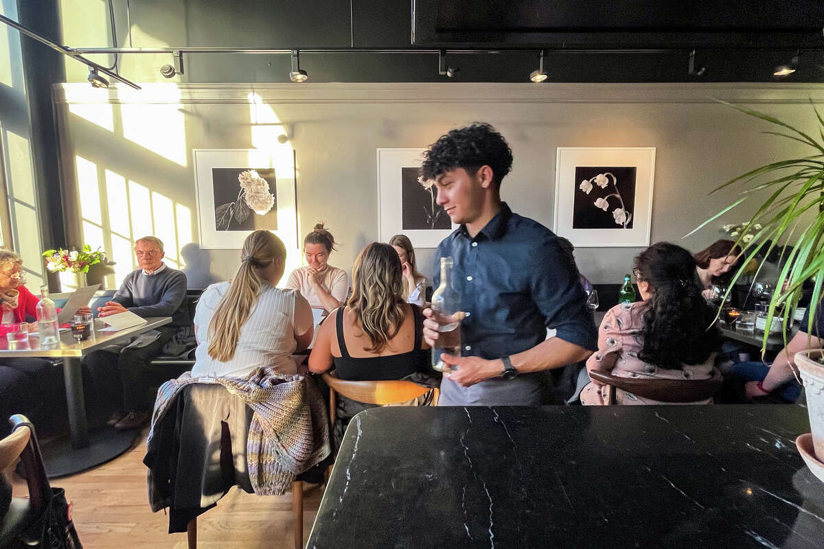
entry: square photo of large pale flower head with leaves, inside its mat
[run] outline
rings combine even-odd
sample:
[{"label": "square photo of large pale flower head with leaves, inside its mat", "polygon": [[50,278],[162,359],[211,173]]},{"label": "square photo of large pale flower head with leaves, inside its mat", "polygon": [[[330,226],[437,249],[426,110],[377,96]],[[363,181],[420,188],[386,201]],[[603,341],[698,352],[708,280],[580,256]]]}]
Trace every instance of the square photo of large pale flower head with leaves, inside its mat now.
[{"label": "square photo of large pale flower head with leaves, inside its mat", "polygon": [[215,230],[278,230],[274,170],[213,168]]}]

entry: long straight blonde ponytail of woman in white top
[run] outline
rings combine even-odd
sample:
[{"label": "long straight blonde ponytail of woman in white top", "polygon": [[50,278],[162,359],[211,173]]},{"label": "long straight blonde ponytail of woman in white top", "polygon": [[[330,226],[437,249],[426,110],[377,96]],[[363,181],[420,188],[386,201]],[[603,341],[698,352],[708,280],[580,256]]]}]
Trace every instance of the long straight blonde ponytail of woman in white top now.
[{"label": "long straight blonde ponytail of woman in white top", "polygon": [[259,269],[273,261],[286,258],[286,246],[268,230],[255,230],[243,241],[241,266],[229,282],[229,290],[223,295],[208,324],[208,356],[215,361],[231,361],[235,356],[241,326],[249,318],[252,305],[260,289],[268,282],[260,277]]}]

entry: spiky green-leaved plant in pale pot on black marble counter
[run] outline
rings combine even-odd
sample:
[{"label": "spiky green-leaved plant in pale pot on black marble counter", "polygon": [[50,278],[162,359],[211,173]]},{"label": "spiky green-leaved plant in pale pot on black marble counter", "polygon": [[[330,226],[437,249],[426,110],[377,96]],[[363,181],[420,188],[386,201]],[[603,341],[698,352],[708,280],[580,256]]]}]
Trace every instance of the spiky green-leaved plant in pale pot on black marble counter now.
[{"label": "spiky green-leaved plant in pale pot on black marble counter", "polygon": [[[770,326],[774,317],[780,318],[786,340],[789,333],[787,328],[793,322],[795,309],[801,298],[802,285],[804,281],[812,280],[809,323],[806,328],[807,333],[813,333],[812,326],[815,323],[816,309],[822,300],[824,282],[824,118],[810,100],[817,119],[819,139],[769,114],[741,105],[726,105],[772,124],[776,131],[764,133],[803,143],[809,155],[772,162],[716,188],[713,192],[734,185],[742,188],[742,196],[695,230],[717,220],[744,202],[763,201],[738,236],[737,244],[742,247],[742,254],[745,256],[743,264],[746,265],[758,254],[770,254],[779,241],[792,245],[791,251],[782,258],[784,267],[780,271],[779,280],[784,281],[784,286],[777,288],[772,295],[766,325]],[[745,239],[744,235],[752,236]],[[740,276],[741,272],[738,272],[733,283]],[[769,331],[765,331],[762,351],[766,347],[768,335]],[[824,462],[824,351],[800,352],[795,356],[795,363],[801,371],[806,388],[815,453],[817,459]]]}]

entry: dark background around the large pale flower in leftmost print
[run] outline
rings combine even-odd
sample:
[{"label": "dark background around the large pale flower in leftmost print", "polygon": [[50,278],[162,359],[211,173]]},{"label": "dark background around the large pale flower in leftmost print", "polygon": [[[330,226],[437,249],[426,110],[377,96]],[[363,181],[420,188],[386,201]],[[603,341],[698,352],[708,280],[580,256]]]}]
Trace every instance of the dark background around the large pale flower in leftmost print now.
[{"label": "dark background around the large pale flower in leftmost print", "polygon": [[[241,183],[237,176],[245,170],[255,170],[269,184],[274,204],[260,216],[237,195]],[[212,193],[215,206],[215,230],[278,230],[278,191],[274,168],[212,168]]]}]

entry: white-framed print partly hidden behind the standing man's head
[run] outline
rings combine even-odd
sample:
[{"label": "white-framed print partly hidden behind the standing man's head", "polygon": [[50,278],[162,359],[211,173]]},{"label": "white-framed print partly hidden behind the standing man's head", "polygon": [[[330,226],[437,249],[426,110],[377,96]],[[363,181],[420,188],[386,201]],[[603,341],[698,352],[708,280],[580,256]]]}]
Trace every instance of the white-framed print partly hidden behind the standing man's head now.
[{"label": "white-framed print partly hidden behind the standing man's head", "polygon": [[[414,183],[426,149],[377,149],[378,235],[406,235],[415,248],[437,248],[457,228],[435,203],[434,187]],[[432,227],[427,227],[431,225]]]}]

